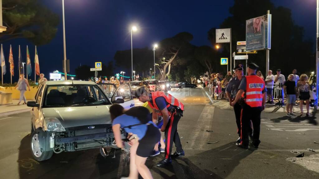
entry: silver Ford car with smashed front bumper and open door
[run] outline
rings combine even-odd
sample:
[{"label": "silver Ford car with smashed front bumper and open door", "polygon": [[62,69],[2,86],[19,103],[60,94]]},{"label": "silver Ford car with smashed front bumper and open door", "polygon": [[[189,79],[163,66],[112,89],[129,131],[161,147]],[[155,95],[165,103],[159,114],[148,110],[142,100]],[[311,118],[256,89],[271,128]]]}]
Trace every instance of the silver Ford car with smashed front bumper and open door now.
[{"label": "silver Ford car with smashed front bumper and open door", "polygon": [[[53,153],[73,152],[114,146],[109,107],[133,107],[130,83],[116,89],[115,84],[90,81],[48,81],[39,86],[31,109],[33,158],[48,160]],[[122,134],[123,138],[125,132]]]}]

